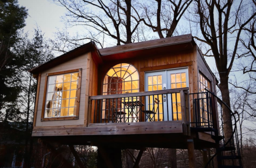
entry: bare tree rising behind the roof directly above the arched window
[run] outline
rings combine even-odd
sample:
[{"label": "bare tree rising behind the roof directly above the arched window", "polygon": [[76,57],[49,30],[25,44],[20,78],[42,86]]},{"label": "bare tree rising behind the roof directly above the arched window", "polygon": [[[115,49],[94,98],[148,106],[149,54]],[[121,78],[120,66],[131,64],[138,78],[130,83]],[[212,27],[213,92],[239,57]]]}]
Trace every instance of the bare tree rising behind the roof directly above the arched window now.
[{"label": "bare tree rising behind the roof directly above the arched window", "polygon": [[[116,45],[133,43],[136,39],[134,32],[141,22],[139,11],[134,7],[136,1],[111,0],[111,1],[85,1],[85,0],[53,0],[56,4],[64,6],[68,13],[64,18],[69,26],[86,28],[87,34],[79,38],[65,40],[95,40],[101,47],[105,36],[117,41]],[[101,39],[101,40],[100,40]]]}]

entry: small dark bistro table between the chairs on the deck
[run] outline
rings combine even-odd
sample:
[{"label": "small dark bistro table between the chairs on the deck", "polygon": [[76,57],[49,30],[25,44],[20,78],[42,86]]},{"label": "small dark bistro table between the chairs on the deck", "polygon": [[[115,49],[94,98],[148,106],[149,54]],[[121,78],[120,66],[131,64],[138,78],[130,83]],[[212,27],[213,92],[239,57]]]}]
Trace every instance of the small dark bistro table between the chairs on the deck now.
[{"label": "small dark bistro table between the chairs on the deck", "polygon": [[[129,119],[131,117],[131,122],[135,121],[137,122],[137,120],[139,121],[139,118],[138,118],[138,114],[139,112],[141,111],[141,107],[144,106],[143,103],[141,103],[140,101],[129,101],[129,102],[122,102],[125,107],[128,109],[128,117],[127,119],[125,120],[125,122],[128,120],[129,122]],[[134,112],[134,109],[135,108],[139,108],[139,110],[136,110]],[[135,115],[136,117],[134,117],[133,115]],[[137,120],[136,120],[137,119]]]}]

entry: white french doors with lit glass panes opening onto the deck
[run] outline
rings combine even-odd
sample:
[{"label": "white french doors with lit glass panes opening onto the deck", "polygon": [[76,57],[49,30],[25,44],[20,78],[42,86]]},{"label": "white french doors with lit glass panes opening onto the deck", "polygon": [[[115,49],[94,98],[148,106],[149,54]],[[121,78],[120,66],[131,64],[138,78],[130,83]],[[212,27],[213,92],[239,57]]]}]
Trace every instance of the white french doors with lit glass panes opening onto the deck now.
[{"label": "white french doors with lit glass panes opening onto the deck", "polygon": [[[188,87],[188,69],[146,72],[145,91]],[[146,110],[154,111],[154,121],[181,120],[180,94],[154,95],[146,98]]]}]

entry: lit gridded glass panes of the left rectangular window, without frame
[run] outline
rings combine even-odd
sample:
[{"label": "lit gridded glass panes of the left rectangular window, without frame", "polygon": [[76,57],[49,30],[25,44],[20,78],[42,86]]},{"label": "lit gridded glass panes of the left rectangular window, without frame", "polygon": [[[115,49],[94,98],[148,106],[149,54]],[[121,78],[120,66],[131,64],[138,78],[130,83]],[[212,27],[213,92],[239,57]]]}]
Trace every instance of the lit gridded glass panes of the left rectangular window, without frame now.
[{"label": "lit gridded glass panes of the left rectangular window, without frame", "polygon": [[78,72],[48,77],[45,118],[74,115],[77,104],[78,78]]}]

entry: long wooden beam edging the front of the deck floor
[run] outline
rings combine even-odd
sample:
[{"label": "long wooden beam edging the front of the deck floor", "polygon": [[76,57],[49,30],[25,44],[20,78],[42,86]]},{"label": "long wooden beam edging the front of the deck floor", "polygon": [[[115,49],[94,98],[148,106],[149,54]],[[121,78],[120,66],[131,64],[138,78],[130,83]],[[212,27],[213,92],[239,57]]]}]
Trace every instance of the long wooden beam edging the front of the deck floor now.
[{"label": "long wooden beam edging the front of the deck floor", "polygon": [[155,133],[187,134],[187,124],[181,121],[134,122],[134,123],[95,123],[88,127],[36,128],[33,137],[45,136],[101,136],[101,135],[143,135]]}]

